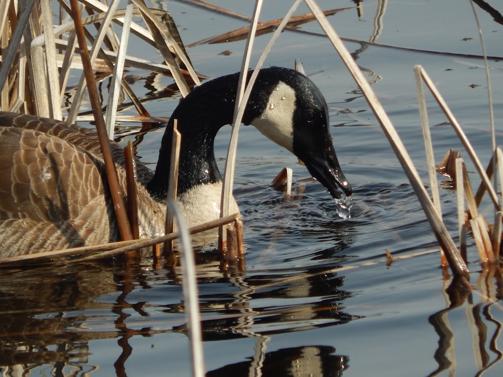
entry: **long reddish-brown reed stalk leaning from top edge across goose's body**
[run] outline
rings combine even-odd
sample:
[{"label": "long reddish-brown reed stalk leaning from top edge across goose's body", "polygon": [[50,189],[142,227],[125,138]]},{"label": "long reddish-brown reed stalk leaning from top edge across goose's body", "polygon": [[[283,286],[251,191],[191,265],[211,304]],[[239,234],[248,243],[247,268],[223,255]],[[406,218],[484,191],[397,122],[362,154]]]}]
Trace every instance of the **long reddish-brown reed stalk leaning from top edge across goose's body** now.
[{"label": "long reddish-brown reed stalk leaning from top edge across goose's body", "polygon": [[103,113],[101,111],[94,72],[92,70],[91,59],[86,44],[86,37],[84,36],[83,26],[80,21],[80,12],[78,11],[77,0],[70,0],[70,5],[73,22],[75,23],[75,33],[77,35],[78,46],[80,49],[80,58],[82,60],[84,75],[87,81],[89,98],[91,100],[93,115],[96,121],[96,130],[98,132],[100,145],[103,152],[103,160],[105,163],[105,168],[107,169],[107,179],[110,185],[110,193],[112,196],[112,201],[114,203],[114,210],[117,217],[119,231],[123,240],[130,240],[133,238],[133,236],[131,234],[131,228],[129,226],[129,221],[127,219],[125,211],[119,178],[117,176],[117,171],[115,170],[115,162],[112,156],[112,151],[110,149],[110,140],[108,139],[105,121],[103,119]]}]

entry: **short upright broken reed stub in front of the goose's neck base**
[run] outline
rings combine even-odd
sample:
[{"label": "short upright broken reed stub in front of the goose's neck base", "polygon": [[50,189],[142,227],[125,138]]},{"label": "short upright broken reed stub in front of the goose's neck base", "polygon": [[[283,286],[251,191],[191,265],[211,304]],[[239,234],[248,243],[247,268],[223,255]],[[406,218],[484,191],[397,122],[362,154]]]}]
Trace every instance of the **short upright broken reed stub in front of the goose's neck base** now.
[{"label": "short upright broken reed stub in front of the goose's neck base", "polygon": [[[178,131],[178,120],[173,122],[173,136],[171,141],[171,161],[170,179],[167,181],[167,197],[166,197],[166,225],[164,233],[173,233],[175,230],[175,223],[173,222],[173,213],[169,211],[167,204],[170,201],[176,201],[178,196],[178,168],[180,166],[180,148],[182,146],[182,134]],[[173,250],[174,240],[166,241],[164,243],[164,256]]]}]

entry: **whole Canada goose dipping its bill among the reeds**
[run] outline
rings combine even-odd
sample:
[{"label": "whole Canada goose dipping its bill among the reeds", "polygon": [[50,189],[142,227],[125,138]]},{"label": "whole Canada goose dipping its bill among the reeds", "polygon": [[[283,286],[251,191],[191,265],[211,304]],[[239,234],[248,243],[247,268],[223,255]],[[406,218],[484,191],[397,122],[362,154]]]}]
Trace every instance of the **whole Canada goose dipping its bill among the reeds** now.
[{"label": "whole Canada goose dipping its bill among the reeds", "polygon": [[[142,237],[164,231],[174,119],[182,134],[178,198],[187,223],[218,217],[221,175],[213,143],[218,130],[232,122],[238,77],[222,76],[196,87],[167,125],[155,172],[137,162]],[[352,194],[333,150],[325,100],[303,74],[262,69],[242,122],[294,153],[333,198]],[[94,131],[0,113],[0,148],[0,257],[119,239]],[[113,150],[121,148],[113,143]],[[118,174],[123,182],[124,169],[119,167]],[[237,205],[231,210],[237,212]]]}]

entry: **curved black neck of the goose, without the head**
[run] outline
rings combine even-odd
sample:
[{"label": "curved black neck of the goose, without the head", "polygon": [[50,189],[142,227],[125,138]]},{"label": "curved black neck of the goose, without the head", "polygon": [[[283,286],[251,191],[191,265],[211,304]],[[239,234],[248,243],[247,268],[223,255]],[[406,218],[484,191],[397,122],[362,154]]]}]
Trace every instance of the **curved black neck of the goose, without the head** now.
[{"label": "curved black neck of the goose, without the head", "polygon": [[[155,174],[147,185],[154,199],[166,198],[175,119],[182,135],[178,195],[195,185],[221,180],[213,144],[218,130],[232,122],[238,78],[236,73],[208,81],[180,102],[162,137]],[[247,113],[243,119],[245,124],[256,116],[253,109]]]}]

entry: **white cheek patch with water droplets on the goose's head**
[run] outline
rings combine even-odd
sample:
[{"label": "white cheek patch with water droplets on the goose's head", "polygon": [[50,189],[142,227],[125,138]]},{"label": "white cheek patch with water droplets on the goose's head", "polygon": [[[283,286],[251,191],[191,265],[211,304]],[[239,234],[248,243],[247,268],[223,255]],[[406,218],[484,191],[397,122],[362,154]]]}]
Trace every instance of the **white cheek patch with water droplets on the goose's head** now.
[{"label": "white cheek patch with water droplets on the goose's head", "polygon": [[295,91],[280,81],[274,88],[264,112],[255,118],[254,125],[264,136],[293,152],[293,113]]}]

